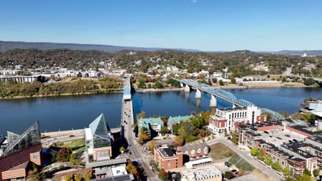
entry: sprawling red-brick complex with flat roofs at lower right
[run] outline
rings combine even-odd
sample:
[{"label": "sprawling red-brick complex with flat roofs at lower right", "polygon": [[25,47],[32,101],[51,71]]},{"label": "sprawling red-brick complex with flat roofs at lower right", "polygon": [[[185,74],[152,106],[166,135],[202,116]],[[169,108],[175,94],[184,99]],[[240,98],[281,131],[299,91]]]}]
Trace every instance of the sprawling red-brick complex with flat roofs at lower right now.
[{"label": "sprawling red-brick complex with flat roofs at lower right", "polygon": [[301,125],[289,126],[271,121],[238,125],[239,145],[264,149],[273,162],[290,169],[293,176],[301,176],[304,169],[313,173],[322,165],[321,132],[310,132]]}]

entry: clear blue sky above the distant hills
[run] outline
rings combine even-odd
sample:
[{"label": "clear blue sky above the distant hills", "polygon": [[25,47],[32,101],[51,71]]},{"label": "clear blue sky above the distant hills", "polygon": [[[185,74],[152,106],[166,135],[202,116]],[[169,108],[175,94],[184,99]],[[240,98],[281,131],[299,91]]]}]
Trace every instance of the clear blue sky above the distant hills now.
[{"label": "clear blue sky above the distant hills", "polygon": [[322,1],[4,0],[0,40],[204,51],[322,49]]}]

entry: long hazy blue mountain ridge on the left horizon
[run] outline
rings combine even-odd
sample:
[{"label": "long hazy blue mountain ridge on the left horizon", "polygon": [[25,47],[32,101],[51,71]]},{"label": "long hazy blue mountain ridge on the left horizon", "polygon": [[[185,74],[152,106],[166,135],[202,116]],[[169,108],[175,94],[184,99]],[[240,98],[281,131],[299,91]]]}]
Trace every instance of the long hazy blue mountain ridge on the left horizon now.
[{"label": "long hazy blue mountain ridge on the left horizon", "polygon": [[[78,43],[41,43],[41,42],[21,42],[21,41],[0,41],[0,52],[10,49],[72,49],[72,50],[98,50],[98,51],[158,51],[167,48],[158,47],[122,47],[114,45],[94,45],[94,44],[78,44]],[[181,51],[200,51],[197,49],[176,49]]]}]

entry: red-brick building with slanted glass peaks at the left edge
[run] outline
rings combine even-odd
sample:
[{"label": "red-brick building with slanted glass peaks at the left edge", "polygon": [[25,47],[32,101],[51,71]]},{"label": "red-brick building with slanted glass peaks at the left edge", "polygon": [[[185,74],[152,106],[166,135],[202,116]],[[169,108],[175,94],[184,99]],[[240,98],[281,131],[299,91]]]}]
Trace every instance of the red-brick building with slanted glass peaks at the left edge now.
[{"label": "red-brick building with slanted glass peaks at the left edge", "polygon": [[41,139],[39,122],[23,134],[8,132],[8,145],[0,156],[0,180],[24,179],[29,162],[41,165]]}]

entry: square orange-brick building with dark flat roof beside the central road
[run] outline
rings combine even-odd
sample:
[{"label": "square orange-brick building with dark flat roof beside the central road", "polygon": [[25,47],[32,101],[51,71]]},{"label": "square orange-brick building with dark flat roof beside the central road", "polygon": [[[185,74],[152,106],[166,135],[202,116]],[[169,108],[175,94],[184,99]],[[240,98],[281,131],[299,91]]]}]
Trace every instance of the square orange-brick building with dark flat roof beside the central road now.
[{"label": "square orange-brick building with dark flat roof beside the central road", "polygon": [[183,165],[183,153],[178,147],[174,152],[167,146],[154,148],[154,160],[158,162],[160,168],[164,170],[175,169]]}]

